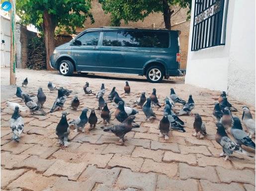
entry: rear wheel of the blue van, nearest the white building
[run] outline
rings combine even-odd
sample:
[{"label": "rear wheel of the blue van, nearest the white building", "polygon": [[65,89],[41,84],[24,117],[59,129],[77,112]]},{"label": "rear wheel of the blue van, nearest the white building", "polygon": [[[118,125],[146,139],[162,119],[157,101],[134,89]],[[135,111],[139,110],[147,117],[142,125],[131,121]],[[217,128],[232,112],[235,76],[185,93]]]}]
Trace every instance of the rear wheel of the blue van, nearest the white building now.
[{"label": "rear wheel of the blue van, nearest the white building", "polygon": [[[160,73],[159,73],[160,72]],[[153,65],[147,69],[147,80],[151,83],[159,83],[163,80],[164,69],[161,66]]]}]

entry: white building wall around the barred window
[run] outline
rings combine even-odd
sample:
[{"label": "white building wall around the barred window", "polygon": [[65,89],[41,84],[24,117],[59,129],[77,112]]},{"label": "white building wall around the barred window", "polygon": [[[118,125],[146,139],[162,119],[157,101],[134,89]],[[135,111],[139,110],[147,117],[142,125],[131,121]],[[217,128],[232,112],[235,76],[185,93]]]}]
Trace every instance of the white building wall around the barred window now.
[{"label": "white building wall around the barred window", "polygon": [[[255,1],[229,0],[225,45],[190,51],[194,2],[192,0],[185,83],[227,91],[241,101],[255,104]],[[244,85],[247,75],[250,76]],[[248,92],[252,93],[245,96]]]}]

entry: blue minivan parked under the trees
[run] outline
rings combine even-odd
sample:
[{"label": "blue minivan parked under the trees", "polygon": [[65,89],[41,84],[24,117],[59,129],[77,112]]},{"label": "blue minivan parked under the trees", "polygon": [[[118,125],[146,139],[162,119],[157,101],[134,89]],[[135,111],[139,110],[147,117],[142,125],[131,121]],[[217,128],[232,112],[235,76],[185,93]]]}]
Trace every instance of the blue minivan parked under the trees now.
[{"label": "blue minivan parked under the trees", "polygon": [[157,83],[182,73],[179,31],[126,27],[87,29],[57,47],[50,65],[60,74],[77,72],[146,75]]}]

